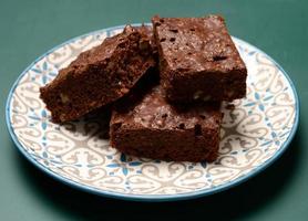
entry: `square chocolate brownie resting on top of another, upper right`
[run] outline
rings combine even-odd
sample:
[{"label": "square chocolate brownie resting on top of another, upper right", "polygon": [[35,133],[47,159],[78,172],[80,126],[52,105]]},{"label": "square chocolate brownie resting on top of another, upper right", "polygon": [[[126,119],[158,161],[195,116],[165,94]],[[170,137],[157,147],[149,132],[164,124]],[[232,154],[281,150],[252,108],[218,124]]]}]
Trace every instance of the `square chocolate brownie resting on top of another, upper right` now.
[{"label": "square chocolate brownie resting on top of another, upper right", "polygon": [[222,17],[154,17],[152,23],[161,84],[170,101],[245,97],[247,70]]}]

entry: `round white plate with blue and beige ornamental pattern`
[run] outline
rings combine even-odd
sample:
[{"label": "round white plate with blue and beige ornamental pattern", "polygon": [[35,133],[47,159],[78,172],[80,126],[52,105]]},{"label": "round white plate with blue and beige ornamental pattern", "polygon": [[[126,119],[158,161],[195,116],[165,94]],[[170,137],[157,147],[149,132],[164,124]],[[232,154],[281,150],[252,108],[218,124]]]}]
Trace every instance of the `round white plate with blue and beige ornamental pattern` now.
[{"label": "round white plate with blue and beige ornamental pattern", "polygon": [[284,70],[257,48],[233,38],[248,69],[247,97],[224,108],[215,162],[174,162],[125,156],[103,139],[106,116],[62,126],[50,122],[39,98],[82,51],[123,27],[70,40],[34,61],[16,81],[7,102],[7,124],[19,150],[48,175],[79,189],[130,200],[179,200],[214,193],[247,180],[275,161],[298,125],[298,96]]}]

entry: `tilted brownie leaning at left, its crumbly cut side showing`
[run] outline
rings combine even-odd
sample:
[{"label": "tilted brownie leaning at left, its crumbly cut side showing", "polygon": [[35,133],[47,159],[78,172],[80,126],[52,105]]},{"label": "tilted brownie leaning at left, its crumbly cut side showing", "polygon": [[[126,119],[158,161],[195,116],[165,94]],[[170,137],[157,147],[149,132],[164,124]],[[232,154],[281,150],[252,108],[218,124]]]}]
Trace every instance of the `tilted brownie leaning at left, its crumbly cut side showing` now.
[{"label": "tilted brownie leaning at left, its crumbly cut side showing", "polygon": [[154,65],[148,30],[127,25],[61,70],[41,98],[53,122],[73,120],[129,93]]}]

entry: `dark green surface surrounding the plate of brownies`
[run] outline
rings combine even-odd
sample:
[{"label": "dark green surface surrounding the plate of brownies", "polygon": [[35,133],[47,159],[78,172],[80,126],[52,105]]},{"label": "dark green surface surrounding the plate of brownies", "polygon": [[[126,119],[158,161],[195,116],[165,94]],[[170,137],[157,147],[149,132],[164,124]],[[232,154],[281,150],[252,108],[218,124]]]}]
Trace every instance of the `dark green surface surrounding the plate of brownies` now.
[{"label": "dark green surface surrounding the plate of brownies", "polygon": [[[1,1],[0,220],[307,220],[308,2],[233,1]],[[70,38],[107,27],[147,22],[153,14],[222,13],[233,35],[273,56],[294,81],[301,114],[284,156],[249,181],[202,199],[138,203],[88,194],[43,175],[17,150],[6,128],[9,88],[33,60]]]}]

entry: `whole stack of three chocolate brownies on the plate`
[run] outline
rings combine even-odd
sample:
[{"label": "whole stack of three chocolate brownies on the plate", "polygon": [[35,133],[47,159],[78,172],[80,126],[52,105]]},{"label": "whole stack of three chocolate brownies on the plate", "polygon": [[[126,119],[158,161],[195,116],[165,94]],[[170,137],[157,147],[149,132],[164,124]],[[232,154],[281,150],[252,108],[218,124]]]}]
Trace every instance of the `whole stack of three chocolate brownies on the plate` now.
[{"label": "whole stack of three chocolate brownies on the plate", "polygon": [[246,95],[247,70],[224,19],[152,19],[81,53],[41,98],[55,123],[112,106],[111,145],[175,161],[217,158],[220,102]]}]

